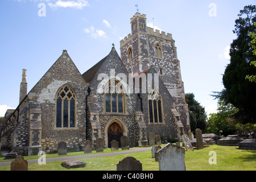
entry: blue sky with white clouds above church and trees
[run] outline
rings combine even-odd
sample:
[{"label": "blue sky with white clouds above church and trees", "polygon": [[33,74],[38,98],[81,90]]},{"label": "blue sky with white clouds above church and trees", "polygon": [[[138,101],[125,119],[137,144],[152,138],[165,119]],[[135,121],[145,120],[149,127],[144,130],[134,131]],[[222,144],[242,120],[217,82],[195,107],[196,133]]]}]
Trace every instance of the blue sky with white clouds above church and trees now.
[{"label": "blue sky with white clouds above church and trees", "polygon": [[194,93],[208,114],[216,112],[210,94],[224,88],[229,45],[236,39],[234,21],[255,0],[2,0],[0,116],[19,104],[23,68],[29,92],[63,49],[81,74],[108,55],[112,43],[119,53],[137,3],[147,26],[154,18],[156,29],[172,34],[185,93]]}]

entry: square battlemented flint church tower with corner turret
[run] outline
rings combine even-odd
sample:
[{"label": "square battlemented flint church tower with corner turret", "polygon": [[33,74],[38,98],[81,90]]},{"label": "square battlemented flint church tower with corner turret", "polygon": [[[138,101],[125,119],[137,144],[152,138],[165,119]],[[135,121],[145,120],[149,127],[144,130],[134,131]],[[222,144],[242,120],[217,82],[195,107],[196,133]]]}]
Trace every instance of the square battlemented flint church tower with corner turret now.
[{"label": "square battlemented flint church tower with corner turret", "polygon": [[[175,100],[185,132],[190,130],[188,105],[181,80],[180,61],[171,34],[146,26],[146,15],[136,13],[131,19],[131,34],[120,42],[121,60],[131,74],[154,67]],[[150,90],[147,90],[150,93]]]}]

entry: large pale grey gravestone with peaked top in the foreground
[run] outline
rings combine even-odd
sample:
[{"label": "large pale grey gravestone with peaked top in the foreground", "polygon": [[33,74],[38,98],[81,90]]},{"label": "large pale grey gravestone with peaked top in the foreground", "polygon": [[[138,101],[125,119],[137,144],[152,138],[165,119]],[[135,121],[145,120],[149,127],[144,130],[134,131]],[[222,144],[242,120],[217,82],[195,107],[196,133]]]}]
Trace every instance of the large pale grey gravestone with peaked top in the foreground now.
[{"label": "large pale grey gravestone with peaked top in the foreground", "polygon": [[155,155],[155,159],[159,163],[159,171],[185,171],[184,158],[184,148],[172,143],[166,144]]}]

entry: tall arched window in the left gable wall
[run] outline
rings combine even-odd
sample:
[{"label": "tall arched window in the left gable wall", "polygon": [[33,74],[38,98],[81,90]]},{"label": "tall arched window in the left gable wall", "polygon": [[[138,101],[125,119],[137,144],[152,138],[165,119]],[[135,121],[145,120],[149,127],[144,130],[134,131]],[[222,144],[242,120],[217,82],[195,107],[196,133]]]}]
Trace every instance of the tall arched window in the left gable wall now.
[{"label": "tall arched window in the left gable wall", "polygon": [[56,127],[75,127],[76,95],[69,85],[62,86],[56,96]]}]

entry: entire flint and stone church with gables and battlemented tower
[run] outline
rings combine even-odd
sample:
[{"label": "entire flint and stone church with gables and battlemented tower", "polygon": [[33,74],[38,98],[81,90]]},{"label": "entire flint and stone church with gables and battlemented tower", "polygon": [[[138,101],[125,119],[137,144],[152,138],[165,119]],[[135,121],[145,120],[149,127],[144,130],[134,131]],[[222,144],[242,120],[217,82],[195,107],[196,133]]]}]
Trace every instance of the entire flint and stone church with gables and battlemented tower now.
[{"label": "entire flint and stone church with gables and battlemented tower", "polygon": [[[66,50],[27,93],[26,69],[20,101],[7,110],[2,147],[19,155],[82,151],[102,138],[105,147],[125,135],[130,147],[148,145],[148,135],[179,140],[190,130],[180,62],[171,34],[146,26],[146,15],[131,19],[131,34],[109,55],[81,74]],[[65,68],[65,69],[63,69]]]}]

